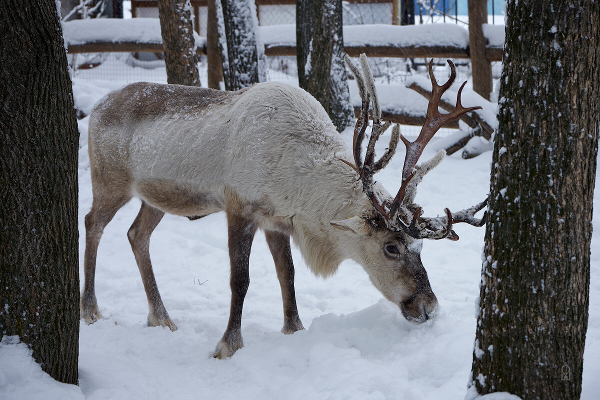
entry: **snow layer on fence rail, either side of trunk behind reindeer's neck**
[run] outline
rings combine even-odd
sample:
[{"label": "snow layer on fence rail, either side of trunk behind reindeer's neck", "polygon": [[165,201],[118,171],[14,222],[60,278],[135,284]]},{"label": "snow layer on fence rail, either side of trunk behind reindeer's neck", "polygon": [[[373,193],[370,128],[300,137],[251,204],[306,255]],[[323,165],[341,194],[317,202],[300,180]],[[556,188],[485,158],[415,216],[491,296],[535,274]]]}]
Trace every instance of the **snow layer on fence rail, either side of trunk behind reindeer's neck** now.
[{"label": "snow layer on fence rail, either side of trunk behind reindeer's neck", "polygon": [[[296,25],[260,26],[265,47],[295,46]],[[449,46],[466,49],[469,31],[452,23],[426,25],[347,25],[344,46]]]}]

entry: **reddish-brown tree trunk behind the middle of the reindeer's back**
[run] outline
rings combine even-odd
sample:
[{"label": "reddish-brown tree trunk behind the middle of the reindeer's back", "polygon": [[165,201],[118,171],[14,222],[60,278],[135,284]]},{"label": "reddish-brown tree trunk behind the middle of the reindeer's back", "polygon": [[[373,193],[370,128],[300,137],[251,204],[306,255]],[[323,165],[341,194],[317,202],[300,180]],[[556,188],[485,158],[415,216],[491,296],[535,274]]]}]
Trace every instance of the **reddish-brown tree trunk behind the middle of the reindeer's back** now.
[{"label": "reddish-brown tree trunk behind the middle of the reindeer's back", "polygon": [[200,86],[190,0],[158,0],[167,82]]}]

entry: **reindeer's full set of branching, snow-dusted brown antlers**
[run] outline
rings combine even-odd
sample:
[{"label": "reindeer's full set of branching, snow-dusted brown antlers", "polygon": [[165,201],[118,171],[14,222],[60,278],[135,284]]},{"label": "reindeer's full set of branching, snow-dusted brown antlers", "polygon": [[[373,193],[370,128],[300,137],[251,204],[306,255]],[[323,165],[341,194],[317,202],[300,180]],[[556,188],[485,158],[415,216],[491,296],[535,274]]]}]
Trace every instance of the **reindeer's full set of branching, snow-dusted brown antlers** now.
[{"label": "reindeer's full set of branching, snow-dusted brown antlers", "polygon": [[[371,73],[371,68],[367,62],[367,56],[364,54],[361,54],[360,56],[362,74],[358,67],[350,61],[350,58],[347,55],[344,56],[344,59],[356,77],[356,83],[358,84],[362,100],[361,114],[359,115],[358,121],[356,121],[353,140],[353,155],[356,163],[356,171],[361,176],[362,187],[365,194],[371,200],[371,203],[373,203],[377,212],[383,216],[389,227],[402,230],[416,239],[443,239],[448,237],[448,239],[451,240],[458,240],[457,234],[452,230],[453,223],[466,222],[467,224],[479,227],[485,224],[487,214],[484,213],[484,216],[481,219],[477,219],[475,218],[475,213],[485,207],[487,199],[476,204],[476,206],[455,213],[454,216],[450,210],[446,208],[445,216],[438,216],[435,218],[422,217],[421,207],[419,207],[418,204],[412,204],[416,196],[416,186],[421,182],[423,176],[433,167],[437,166],[445,156],[445,151],[442,150],[431,160],[427,161],[427,163],[424,163],[422,166],[417,166],[416,163],[421,157],[427,143],[429,143],[434,134],[436,134],[443,125],[454,121],[467,112],[481,109],[479,106],[462,106],[460,96],[464,85],[467,83],[465,81],[458,90],[456,107],[454,110],[448,114],[439,112],[439,101],[442,98],[443,93],[450,88],[456,78],[456,68],[452,61],[448,60],[451,69],[450,77],[448,81],[441,86],[437,85],[436,78],[433,74],[433,59],[429,63],[429,76],[431,78],[431,86],[433,89],[427,107],[425,123],[421,128],[421,133],[419,133],[417,139],[414,142],[410,142],[404,136],[400,135],[400,126],[395,125],[392,130],[392,137],[388,149],[386,149],[383,156],[375,162],[375,143],[377,142],[377,139],[379,139],[379,136],[389,128],[391,122],[382,124],[381,109],[379,100],[377,99],[373,74]],[[371,130],[371,138],[367,145],[363,163],[361,160],[361,146],[368,126],[368,112],[371,101],[373,102],[373,129]],[[386,209],[386,206],[388,206],[386,201],[379,203],[379,200],[374,194],[373,175],[389,163],[389,160],[396,151],[399,139],[401,139],[406,146],[406,158],[404,158],[400,190],[398,190],[398,194],[389,204],[388,211],[388,209]],[[410,207],[407,207],[409,205]],[[403,218],[408,217],[411,217],[410,222],[404,221]]]}]

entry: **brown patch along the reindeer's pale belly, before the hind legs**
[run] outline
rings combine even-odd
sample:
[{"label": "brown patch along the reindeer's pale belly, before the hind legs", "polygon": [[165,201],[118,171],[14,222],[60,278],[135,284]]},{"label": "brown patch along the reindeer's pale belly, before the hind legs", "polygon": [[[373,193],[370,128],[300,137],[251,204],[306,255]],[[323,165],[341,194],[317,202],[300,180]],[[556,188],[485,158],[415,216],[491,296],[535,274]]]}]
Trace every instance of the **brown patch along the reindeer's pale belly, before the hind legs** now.
[{"label": "brown patch along the reindeer's pale belly, before the hind legs", "polygon": [[225,209],[221,194],[172,179],[143,179],[134,185],[134,193],[152,207],[175,215],[204,216]]}]

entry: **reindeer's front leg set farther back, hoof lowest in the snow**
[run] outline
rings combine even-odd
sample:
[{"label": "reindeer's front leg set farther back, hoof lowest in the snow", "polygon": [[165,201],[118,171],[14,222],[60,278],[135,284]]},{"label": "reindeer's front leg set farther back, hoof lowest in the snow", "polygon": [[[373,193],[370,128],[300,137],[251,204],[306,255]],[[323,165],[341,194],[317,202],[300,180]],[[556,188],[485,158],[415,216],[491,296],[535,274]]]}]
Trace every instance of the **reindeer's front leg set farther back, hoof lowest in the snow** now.
[{"label": "reindeer's front leg set farther back, hoof lowest in the snow", "polygon": [[242,308],[250,284],[248,261],[250,260],[252,239],[254,233],[256,233],[256,224],[250,218],[237,215],[228,210],[227,230],[229,231],[229,260],[231,263],[231,309],[227,330],[212,355],[221,360],[233,356],[236,350],[244,347],[244,341],[242,341]]}]

